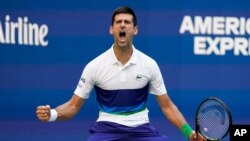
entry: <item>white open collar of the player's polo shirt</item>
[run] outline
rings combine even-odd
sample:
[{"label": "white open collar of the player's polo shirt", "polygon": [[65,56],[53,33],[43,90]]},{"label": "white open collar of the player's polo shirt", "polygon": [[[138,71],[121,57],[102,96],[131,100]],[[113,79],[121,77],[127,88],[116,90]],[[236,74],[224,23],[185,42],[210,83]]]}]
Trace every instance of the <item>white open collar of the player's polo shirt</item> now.
[{"label": "white open collar of the player's polo shirt", "polygon": [[[119,60],[115,56],[113,46],[114,45],[112,45],[111,48],[109,49],[109,52],[110,52],[110,54],[112,56],[111,63],[112,64],[117,64],[117,63],[119,63]],[[132,48],[133,48],[133,52],[132,52],[132,55],[131,55],[130,59],[128,60],[128,63],[129,64],[136,64],[136,62],[137,62],[137,53],[138,52],[137,52],[137,49],[134,47],[134,45],[132,45]]]}]

